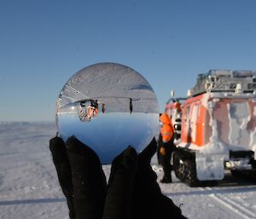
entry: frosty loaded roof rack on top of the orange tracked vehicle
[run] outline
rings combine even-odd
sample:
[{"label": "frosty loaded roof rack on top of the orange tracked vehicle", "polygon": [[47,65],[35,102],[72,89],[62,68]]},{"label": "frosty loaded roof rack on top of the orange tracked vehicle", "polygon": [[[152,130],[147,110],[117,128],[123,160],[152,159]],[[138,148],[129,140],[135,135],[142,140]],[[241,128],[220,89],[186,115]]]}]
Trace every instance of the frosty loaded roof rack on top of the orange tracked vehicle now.
[{"label": "frosty loaded roof rack on top of the orange tracked vehicle", "polygon": [[199,74],[197,82],[188,95],[200,95],[209,92],[253,93],[256,90],[256,72],[210,70],[206,74]]}]

